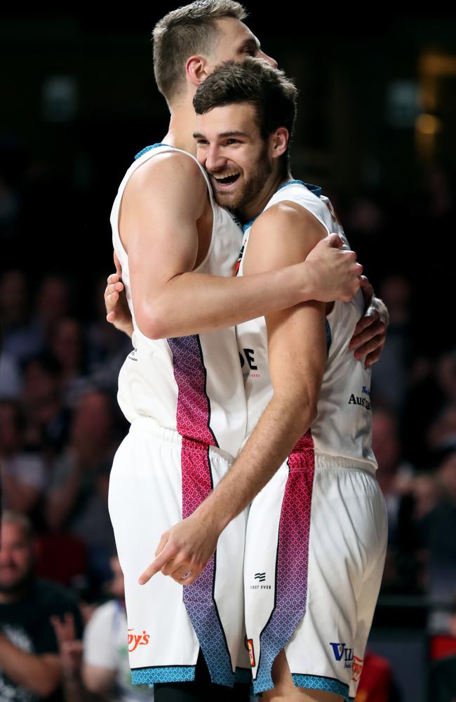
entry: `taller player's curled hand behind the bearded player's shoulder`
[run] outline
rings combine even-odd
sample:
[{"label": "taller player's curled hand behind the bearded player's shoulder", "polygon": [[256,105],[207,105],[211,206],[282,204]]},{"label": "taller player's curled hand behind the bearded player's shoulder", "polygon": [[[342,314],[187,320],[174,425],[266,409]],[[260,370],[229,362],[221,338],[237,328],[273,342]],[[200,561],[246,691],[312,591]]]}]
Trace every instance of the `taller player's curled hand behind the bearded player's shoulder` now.
[{"label": "taller player's curled hand behind the bearded player's shoulder", "polygon": [[338,234],[318,241],[305,260],[314,280],[314,299],[322,303],[342,300],[347,303],[358,292],[363,266],[356,263],[354,251],[341,251]]}]

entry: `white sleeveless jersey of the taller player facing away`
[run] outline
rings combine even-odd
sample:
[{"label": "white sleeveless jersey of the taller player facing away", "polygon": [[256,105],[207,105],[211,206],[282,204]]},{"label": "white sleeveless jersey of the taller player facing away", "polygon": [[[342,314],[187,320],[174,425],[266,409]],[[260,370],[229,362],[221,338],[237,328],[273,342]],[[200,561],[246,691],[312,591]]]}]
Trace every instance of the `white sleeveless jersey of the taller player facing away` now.
[{"label": "white sleeveless jersey of the taller player facing away", "polygon": [[[121,262],[134,327],[134,349],[121,368],[117,399],[129,422],[149,416],[164,428],[175,429],[189,439],[220,446],[236,456],[246,432],[246,397],[234,328],[152,340],[144,336],[136,324],[128,255],[118,229],[121,199],[128,179],[137,168],[158,154],[173,151],[180,152],[168,145],[155,144],[137,154],[112,206],[112,241]],[[198,163],[192,154],[182,153]],[[201,172],[208,184],[213,229],[206,258],[195,272],[231,276],[241,244],[241,230],[232,216],[215,204],[206,171],[201,168]],[[150,256],[154,256],[153,249]],[[156,265],[158,267],[160,262]]]}]

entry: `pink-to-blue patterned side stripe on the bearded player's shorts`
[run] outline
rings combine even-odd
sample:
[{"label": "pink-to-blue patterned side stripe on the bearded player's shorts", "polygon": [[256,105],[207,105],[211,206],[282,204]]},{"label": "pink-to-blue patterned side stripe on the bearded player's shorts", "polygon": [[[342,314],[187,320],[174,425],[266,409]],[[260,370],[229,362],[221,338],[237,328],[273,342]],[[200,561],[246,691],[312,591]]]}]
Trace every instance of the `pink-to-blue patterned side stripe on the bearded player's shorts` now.
[{"label": "pink-to-blue patterned side stripe on the bearded player's shorts", "polygon": [[260,662],[253,683],[256,694],[274,687],[272,664],[306,611],[313,484],[314,440],[309,430],[288,457],[288,480],[279,522],[276,602],[260,635]]}]

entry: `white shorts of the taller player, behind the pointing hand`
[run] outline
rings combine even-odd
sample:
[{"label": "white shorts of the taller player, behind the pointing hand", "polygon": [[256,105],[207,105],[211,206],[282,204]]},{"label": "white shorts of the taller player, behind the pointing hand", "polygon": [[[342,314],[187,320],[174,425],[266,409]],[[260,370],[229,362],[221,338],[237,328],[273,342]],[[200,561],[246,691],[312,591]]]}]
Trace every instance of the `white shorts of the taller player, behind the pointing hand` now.
[{"label": "white shorts of the taller player, behind the pointing hand", "polygon": [[[245,656],[246,512],[224,529],[215,556],[192,585],[161,573],[138,584],[163,531],[198,507],[229,470],[230,460],[220,449],[182,439],[147,417],[133,422],[116,452],[109,513],[125,578],[134,683],[193,680],[200,645],[213,682],[234,682],[236,663]],[[250,677],[250,670],[244,672]]]}]

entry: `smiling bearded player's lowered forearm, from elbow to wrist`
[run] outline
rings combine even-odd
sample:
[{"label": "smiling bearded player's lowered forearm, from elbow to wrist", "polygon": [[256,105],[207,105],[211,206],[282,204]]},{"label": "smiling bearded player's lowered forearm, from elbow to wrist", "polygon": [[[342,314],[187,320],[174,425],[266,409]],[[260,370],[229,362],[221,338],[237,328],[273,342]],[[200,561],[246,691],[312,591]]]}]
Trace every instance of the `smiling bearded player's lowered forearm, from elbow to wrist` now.
[{"label": "smiling bearded player's lowered forearm, from elbow to wrist", "polygon": [[227,475],[197,512],[224,529],[267,484],[315,418],[301,397],[271,399]]}]

